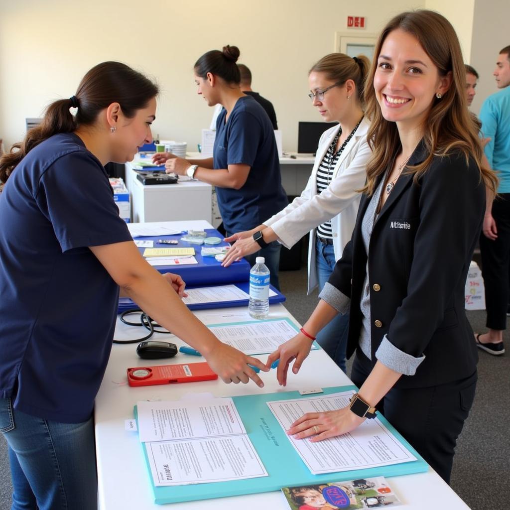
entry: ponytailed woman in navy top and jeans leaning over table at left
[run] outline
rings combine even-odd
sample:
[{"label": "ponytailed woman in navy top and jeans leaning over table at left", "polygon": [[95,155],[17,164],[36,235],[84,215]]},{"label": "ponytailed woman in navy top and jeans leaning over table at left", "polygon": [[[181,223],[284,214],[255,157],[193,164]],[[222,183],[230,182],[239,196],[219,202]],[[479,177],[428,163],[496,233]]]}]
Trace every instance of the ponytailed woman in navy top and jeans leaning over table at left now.
[{"label": "ponytailed woman in navy top and jeans leaning over table at left", "polygon": [[13,509],[96,508],[92,412],[119,287],[223,381],[263,386],[248,364],[264,365],[196,319],[181,277],[151,267],[119,218],[104,165],[152,141],[157,94],[130,67],[98,64],[0,158],[0,430]]}]

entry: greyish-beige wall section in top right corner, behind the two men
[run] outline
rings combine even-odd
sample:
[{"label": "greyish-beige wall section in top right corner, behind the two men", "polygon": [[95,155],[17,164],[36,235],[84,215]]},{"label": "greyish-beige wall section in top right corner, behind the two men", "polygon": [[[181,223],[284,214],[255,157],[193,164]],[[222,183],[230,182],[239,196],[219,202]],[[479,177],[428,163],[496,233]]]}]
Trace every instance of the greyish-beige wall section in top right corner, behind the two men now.
[{"label": "greyish-beige wall section in top right corner, behind the two men", "polygon": [[469,62],[480,75],[471,105],[475,113],[479,113],[483,100],[488,95],[499,90],[492,73],[496,67],[499,50],[510,45],[509,20],[509,2],[476,0]]}]

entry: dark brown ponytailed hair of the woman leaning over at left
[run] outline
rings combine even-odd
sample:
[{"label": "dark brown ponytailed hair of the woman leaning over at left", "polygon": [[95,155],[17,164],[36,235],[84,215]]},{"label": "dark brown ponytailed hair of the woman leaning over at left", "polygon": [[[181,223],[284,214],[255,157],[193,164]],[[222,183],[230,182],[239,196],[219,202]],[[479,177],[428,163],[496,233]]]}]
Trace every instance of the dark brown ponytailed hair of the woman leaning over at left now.
[{"label": "dark brown ponytailed hair of the woman leaning over at left", "polygon": [[[50,136],[72,133],[79,125],[92,125],[99,112],[112,103],[119,103],[122,113],[133,118],[137,110],[145,108],[157,95],[156,84],[125,64],[103,62],[96,65],[85,74],[74,96],[50,104],[41,123],[0,157],[0,181],[5,184],[30,150]],[[73,106],[78,108],[75,116],[69,110]]]}]

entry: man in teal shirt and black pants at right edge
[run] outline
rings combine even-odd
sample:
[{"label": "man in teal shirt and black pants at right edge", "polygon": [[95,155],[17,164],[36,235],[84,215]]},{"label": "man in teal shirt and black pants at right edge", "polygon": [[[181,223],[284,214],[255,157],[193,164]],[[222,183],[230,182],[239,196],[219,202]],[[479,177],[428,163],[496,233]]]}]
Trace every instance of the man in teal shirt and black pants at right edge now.
[{"label": "man in teal shirt and black pants at right edge", "polygon": [[494,70],[499,92],[483,101],[480,110],[481,132],[488,140],[485,155],[499,177],[498,196],[487,201],[480,235],[480,255],[487,333],[475,335],[476,345],[499,356],[505,352],[503,331],[509,301],[510,279],[510,46],[498,56]]}]

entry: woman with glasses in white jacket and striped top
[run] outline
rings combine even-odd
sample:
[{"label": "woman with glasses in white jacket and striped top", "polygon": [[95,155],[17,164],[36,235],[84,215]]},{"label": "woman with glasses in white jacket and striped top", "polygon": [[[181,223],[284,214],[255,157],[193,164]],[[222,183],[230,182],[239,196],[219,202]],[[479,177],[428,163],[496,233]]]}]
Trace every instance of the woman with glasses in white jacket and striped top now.
[{"label": "woman with glasses in white jacket and striped top", "polygon": [[[339,124],[321,136],[312,173],[301,195],[252,230],[226,238],[235,244],[228,250],[224,266],[257,251],[254,235],[291,248],[310,232],[308,293],[317,286],[322,292],[352,235],[359,190],[367,177],[370,123],[363,116],[363,87],[369,66],[366,57],[352,59],[343,53],[326,55],[312,66],[308,79],[312,104],[326,122]],[[317,336],[321,347],[344,372],[348,322],[349,315],[340,314]]]}]

